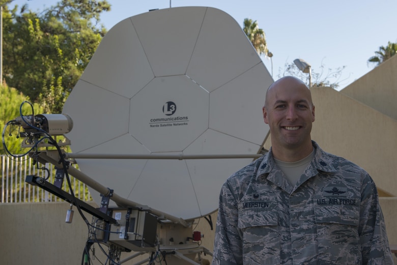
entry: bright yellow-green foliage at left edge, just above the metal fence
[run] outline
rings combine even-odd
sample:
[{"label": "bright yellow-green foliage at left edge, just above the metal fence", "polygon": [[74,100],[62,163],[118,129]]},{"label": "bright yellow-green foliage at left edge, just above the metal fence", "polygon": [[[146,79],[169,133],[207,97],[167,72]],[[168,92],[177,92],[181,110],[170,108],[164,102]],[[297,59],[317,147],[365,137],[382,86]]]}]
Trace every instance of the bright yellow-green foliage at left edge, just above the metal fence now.
[{"label": "bright yellow-green foliage at left edge, just above the metal fence", "polygon": [[[21,150],[21,138],[17,138],[18,128],[15,126],[8,126],[6,131],[6,124],[20,116],[20,106],[23,101],[29,101],[29,97],[24,96],[16,89],[8,87],[7,85],[0,85],[0,126],[4,132],[4,140],[7,149],[12,154],[23,154],[25,150]],[[42,113],[43,108],[39,104],[34,104],[35,113]],[[23,115],[31,115],[32,109],[29,105],[22,105],[21,112]],[[5,150],[2,148],[0,154],[4,155]]]}]

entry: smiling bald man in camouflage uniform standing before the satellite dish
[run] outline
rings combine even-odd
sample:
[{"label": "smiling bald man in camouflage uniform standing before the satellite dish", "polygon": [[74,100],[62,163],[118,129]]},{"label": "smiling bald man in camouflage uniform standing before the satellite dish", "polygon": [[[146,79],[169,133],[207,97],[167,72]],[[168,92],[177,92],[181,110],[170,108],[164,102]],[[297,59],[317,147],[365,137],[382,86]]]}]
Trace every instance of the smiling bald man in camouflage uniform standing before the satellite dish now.
[{"label": "smiling bald man in camouflage uniform standing before the satellite dish", "polygon": [[212,264],[393,264],[371,176],[311,140],[308,87],[277,80],[263,117],[272,147],[222,186]]}]

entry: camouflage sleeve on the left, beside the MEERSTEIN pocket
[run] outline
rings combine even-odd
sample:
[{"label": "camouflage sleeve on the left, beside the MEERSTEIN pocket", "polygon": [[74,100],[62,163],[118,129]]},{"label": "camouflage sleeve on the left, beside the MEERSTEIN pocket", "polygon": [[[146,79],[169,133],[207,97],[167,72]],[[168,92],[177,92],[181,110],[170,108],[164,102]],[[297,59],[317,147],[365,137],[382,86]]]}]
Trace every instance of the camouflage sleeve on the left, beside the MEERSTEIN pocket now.
[{"label": "camouflage sleeve on the left, beside the MEERSTEIN pocket", "polygon": [[219,195],[212,265],[243,264],[236,196],[226,182]]}]

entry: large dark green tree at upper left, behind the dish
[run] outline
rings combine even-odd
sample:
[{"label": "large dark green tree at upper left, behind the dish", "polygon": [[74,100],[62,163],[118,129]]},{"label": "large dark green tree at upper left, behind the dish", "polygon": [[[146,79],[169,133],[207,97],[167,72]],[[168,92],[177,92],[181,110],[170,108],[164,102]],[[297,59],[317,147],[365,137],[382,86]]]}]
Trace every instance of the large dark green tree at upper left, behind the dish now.
[{"label": "large dark green tree at upper left, behind the dish", "polygon": [[4,78],[46,113],[61,113],[105,29],[97,28],[104,1],[62,0],[38,14],[24,5],[4,9]]}]

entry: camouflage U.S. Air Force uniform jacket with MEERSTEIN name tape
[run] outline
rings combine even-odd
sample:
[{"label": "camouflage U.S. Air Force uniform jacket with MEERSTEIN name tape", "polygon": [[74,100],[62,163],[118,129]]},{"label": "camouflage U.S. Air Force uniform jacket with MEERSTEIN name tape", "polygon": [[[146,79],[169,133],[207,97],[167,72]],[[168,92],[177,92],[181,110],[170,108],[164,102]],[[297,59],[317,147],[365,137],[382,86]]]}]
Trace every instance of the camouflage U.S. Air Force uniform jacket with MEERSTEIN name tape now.
[{"label": "camouflage U.S. Air Force uniform jacket with MEERSTEIN name tape", "polygon": [[271,150],[224,183],[212,265],[393,264],[371,176],[313,145],[294,186]]}]

